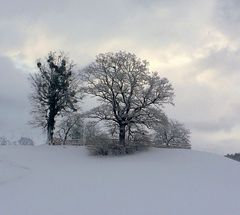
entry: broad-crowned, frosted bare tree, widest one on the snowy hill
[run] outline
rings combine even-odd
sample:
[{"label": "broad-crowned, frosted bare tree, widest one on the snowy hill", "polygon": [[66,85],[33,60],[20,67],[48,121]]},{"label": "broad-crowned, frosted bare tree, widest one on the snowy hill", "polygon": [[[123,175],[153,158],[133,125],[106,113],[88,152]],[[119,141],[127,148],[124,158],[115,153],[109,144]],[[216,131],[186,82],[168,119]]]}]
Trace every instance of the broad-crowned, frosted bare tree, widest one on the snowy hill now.
[{"label": "broad-crowned, frosted bare tree, widest one on the snowy hill", "polygon": [[148,63],[126,52],[100,54],[82,72],[86,93],[100,105],[89,112],[99,120],[118,125],[119,144],[126,144],[126,128],[151,127],[165,116],[162,107],[173,104],[173,88],[166,78],[150,72]]}]

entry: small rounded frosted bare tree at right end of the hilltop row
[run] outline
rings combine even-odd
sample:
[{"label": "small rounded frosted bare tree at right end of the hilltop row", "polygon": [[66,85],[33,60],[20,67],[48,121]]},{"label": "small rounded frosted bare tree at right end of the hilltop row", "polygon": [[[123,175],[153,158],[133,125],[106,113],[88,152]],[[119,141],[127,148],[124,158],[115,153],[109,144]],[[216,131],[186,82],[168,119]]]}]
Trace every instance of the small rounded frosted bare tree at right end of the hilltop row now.
[{"label": "small rounded frosted bare tree at right end of the hilltop row", "polygon": [[176,120],[169,120],[164,126],[156,126],[155,131],[154,142],[156,145],[191,148],[190,130]]}]

